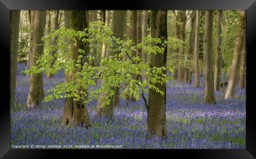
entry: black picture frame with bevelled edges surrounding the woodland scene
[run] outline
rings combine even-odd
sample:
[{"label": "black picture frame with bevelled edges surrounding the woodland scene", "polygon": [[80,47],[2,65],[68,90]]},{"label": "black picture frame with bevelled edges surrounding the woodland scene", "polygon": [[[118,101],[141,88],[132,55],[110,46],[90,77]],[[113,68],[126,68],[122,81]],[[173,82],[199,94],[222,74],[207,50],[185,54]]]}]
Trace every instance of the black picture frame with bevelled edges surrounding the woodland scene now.
[{"label": "black picture frame with bevelled edges surrounding the woodland scene", "polygon": [[[114,6],[115,5],[115,6]],[[0,45],[1,57],[7,59],[10,42],[10,10],[23,9],[197,9],[197,10],[247,10],[247,87],[246,94],[246,150],[166,150],[170,156],[178,154],[179,158],[188,155],[191,158],[255,158],[256,157],[256,124],[254,109],[253,49],[256,40],[256,1],[255,0],[129,0],[129,1],[96,1],[96,0],[0,0]],[[6,56],[6,57],[5,57]],[[2,59],[8,65],[8,61]],[[1,69],[2,70],[2,69]],[[8,69],[3,69],[9,74]],[[250,78],[251,77],[251,78]],[[8,78],[4,80],[7,81]],[[4,84],[2,84],[4,85]],[[8,89],[8,88],[6,88]],[[8,89],[9,90],[9,89]],[[8,91],[7,91],[8,92]],[[6,91],[2,91],[2,101],[7,101]],[[5,97],[6,96],[6,97]],[[66,155],[64,150],[10,150],[10,109],[9,102],[1,105],[0,111],[0,157],[3,158],[46,158],[51,153]],[[69,150],[70,151],[73,150]],[[77,150],[74,150],[77,153]],[[120,150],[123,151],[123,150]],[[129,150],[128,150],[129,151]],[[137,151],[137,150],[134,150]],[[150,152],[156,150],[150,150]],[[164,151],[164,150],[162,150]],[[85,151],[80,151],[83,154]],[[86,153],[88,150],[86,150]],[[96,150],[92,151],[96,153]]]}]

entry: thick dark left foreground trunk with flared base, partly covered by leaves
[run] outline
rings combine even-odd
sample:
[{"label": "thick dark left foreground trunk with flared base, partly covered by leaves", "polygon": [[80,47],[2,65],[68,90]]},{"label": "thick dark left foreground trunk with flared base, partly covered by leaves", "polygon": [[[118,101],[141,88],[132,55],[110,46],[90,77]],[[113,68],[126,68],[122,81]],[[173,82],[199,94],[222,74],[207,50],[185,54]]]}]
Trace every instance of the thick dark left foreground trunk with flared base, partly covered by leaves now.
[{"label": "thick dark left foreground trunk with flared base, partly covered by leaves", "polygon": [[[85,28],[89,28],[89,10],[72,10],[70,13],[70,28],[75,31],[83,31]],[[74,46],[74,41],[71,42],[71,58],[77,60],[78,55],[83,55],[78,52],[78,49],[85,50],[85,54],[89,52],[89,43],[83,43],[82,39],[76,38],[77,46]],[[88,59],[86,59],[88,62]],[[76,68],[76,70],[69,72],[67,76],[67,82],[75,80],[76,72],[81,71],[82,68]],[[79,92],[83,89],[80,88]],[[86,91],[86,90],[83,90]],[[84,97],[85,100],[87,98]],[[72,97],[65,98],[65,107],[63,111],[62,125],[67,124],[82,124],[86,128],[90,126],[89,115],[87,110],[87,103],[84,100],[74,101]]]}]

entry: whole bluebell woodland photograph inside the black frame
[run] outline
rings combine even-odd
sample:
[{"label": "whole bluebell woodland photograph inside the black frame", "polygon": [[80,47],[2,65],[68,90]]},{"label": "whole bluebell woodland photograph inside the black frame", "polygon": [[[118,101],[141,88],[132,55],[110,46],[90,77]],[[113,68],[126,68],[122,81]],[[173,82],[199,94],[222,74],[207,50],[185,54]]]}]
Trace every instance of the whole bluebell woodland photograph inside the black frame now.
[{"label": "whole bluebell woodland photograph inside the black frame", "polygon": [[246,149],[246,10],[10,10],[10,126],[11,149]]}]

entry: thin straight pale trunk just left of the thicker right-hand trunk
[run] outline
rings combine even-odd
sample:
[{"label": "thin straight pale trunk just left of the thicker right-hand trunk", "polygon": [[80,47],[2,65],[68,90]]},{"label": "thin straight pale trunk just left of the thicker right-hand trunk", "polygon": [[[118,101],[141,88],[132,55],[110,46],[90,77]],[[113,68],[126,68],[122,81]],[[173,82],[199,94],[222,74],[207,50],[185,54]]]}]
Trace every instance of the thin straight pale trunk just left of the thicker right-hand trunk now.
[{"label": "thin straight pale trunk just left of the thicker right-hand trunk", "polygon": [[195,87],[200,86],[199,72],[199,26],[200,26],[200,11],[196,11],[196,28],[195,28]]}]

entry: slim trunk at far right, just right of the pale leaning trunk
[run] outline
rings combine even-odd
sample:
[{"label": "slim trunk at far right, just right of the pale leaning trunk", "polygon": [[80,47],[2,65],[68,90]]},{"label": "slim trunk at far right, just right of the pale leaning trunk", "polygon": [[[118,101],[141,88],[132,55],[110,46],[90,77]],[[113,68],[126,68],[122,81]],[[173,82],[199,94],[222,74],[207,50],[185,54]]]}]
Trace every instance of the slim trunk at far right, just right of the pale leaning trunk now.
[{"label": "slim trunk at far right, just right of the pale leaning trunk", "polygon": [[246,73],[246,37],[243,41],[241,68],[240,68],[240,88],[245,88],[245,73]]}]

